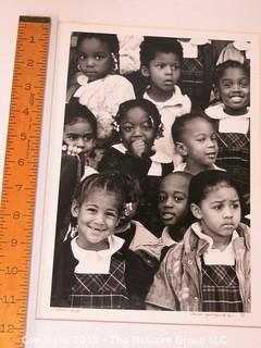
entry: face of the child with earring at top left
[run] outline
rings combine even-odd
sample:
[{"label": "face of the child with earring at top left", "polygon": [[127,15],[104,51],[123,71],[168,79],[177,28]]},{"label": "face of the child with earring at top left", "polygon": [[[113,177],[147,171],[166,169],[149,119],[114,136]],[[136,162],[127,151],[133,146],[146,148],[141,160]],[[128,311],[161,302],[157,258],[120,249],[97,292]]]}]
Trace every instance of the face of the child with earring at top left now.
[{"label": "face of the child with earring at top left", "polygon": [[111,72],[112,59],[109,46],[98,38],[86,38],[78,47],[79,70],[89,82],[104,77]]}]

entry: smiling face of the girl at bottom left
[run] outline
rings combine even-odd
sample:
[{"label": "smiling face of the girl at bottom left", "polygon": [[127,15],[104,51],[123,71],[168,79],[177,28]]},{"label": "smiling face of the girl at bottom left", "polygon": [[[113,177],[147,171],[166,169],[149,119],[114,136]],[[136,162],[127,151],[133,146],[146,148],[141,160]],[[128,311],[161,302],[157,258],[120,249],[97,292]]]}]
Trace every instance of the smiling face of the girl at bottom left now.
[{"label": "smiling face of the girl at bottom left", "polygon": [[107,238],[114,234],[119,222],[116,195],[94,188],[80,207],[73,202],[72,214],[77,217],[78,246],[90,250],[104,249]]}]

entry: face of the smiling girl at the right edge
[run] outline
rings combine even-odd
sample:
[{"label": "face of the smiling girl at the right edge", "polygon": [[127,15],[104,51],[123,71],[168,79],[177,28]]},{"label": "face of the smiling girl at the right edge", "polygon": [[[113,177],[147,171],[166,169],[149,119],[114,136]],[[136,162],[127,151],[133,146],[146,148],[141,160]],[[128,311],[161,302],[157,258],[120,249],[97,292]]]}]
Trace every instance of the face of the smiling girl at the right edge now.
[{"label": "face of the smiling girl at the right edge", "polygon": [[246,113],[250,99],[250,80],[244,70],[227,67],[219,83],[219,94],[227,113]]}]

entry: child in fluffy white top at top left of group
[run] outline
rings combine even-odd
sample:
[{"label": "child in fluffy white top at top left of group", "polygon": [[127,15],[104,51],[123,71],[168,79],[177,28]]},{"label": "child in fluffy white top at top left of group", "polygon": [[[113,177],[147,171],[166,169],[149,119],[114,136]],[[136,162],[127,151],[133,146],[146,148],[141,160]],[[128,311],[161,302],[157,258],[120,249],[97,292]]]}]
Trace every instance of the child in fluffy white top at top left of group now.
[{"label": "child in fluffy white top at top left of group", "polygon": [[97,117],[98,145],[108,146],[112,139],[113,116],[119,104],[134,98],[132,84],[117,72],[119,40],[116,35],[79,33],[76,73],[69,88]]}]

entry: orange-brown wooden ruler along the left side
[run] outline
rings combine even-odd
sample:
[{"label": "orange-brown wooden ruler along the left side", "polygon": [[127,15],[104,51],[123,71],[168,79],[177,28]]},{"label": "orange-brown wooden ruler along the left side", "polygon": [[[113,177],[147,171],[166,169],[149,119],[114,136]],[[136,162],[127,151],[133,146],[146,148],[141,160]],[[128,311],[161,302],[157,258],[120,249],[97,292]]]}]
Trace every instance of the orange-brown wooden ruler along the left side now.
[{"label": "orange-brown wooden ruler along the left side", "polygon": [[0,348],[23,347],[50,18],[21,16],[0,208]]}]

